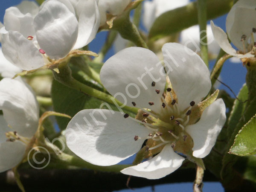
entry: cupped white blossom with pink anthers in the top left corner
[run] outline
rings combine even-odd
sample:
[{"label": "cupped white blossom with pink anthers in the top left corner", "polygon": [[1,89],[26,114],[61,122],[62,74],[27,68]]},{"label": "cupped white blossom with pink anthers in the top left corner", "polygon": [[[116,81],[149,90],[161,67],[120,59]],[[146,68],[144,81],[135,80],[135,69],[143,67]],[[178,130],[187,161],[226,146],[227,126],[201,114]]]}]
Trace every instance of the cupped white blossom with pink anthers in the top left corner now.
[{"label": "cupped white blossom with pink anthers in the top left corner", "polygon": [[25,14],[35,9],[29,2],[25,11],[6,9],[1,29],[3,54],[17,67],[37,69],[49,62],[48,57],[64,58],[95,38],[100,22],[95,0],[48,0],[37,14]]}]

